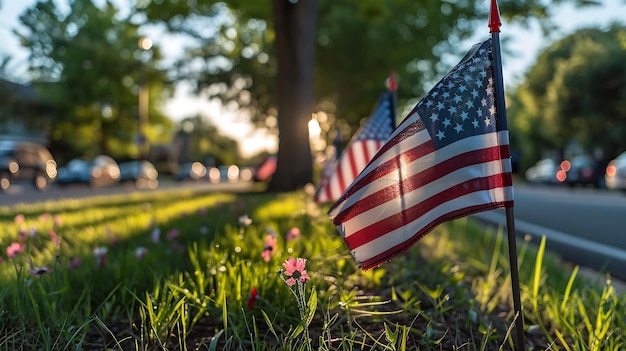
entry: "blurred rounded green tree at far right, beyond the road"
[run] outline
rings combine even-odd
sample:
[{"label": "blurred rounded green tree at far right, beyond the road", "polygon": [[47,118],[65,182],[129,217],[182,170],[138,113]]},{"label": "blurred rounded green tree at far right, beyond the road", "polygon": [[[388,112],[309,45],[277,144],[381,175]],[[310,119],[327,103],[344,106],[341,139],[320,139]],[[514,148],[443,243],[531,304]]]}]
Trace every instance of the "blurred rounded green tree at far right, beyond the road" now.
[{"label": "blurred rounded green tree at far right, beyond the road", "polygon": [[511,101],[513,127],[536,160],[572,140],[606,157],[626,150],[626,27],[581,29],[538,57]]}]

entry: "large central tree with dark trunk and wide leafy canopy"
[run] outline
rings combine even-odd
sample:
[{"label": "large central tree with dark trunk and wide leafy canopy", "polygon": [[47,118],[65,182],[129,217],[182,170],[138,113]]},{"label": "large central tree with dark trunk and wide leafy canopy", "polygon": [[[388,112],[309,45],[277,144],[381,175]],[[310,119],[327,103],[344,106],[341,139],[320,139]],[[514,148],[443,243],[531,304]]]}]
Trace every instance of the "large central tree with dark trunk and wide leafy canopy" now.
[{"label": "large central tree with dark trunk and wide leafy canopy", "polygon": [[[400,107],[410,106],[456,62],[451,57],[467,50],[459,44],[475,35],[476,28],[484,28],[482,37],[488,36],[488,2],[319,0],[317,10],[312,2],[274,0],[269,6],[230,0],[188,6],[178,0],[145,0],[138,8],[148,21],[163,23],[199,43],[191,45],[187,57],[179,62],[179,77],[195,81],[198,91],[209,89],[226,105],[247,110],[261,127],[278,134],[274,129],[278,126],[280,155],[277,180],[272,183],[275,190],[294,189],[311,179],[311,168],[305,162],[290,164],[298,157],[302,161],[309,159],[309,146],[303,142],[308,138],[301,130],[311,112],[324,112],[327,118],[320,121],[322,129],[328,132],[340,128],[345,142],[369,114],[390,70],[400,78]],[[581,6],[597,3],[510,0],[500,1],[500,10],[503,18],[529,23],[530,19],[549,18],[551,8],[563,2]],[[293,12],[282,12],[289,7]],[[288,16],[302,16],[298,17],[301,22],[289,21]],[[277,23],[277,19],[285,22]],[[541,24],[546,31],[550,29],[550,22]],[[313,25],[316,27],[311,28]],[[311,55],[315,52],[315,60],[281,60],[286,54],[280,52],[280,35],[298,43],[311,40],[307,39],[310,30],[315,31],[315,48],[310,50]],[[291,46],[290,58],[298,58],[298,51],[304,50],[306,44],[300,44]],[[313,86],[300,87],[309,84],[300,76],[307,67],[280,73],[281,65],[296,63],[313,64]],[[287,85],[292,89],[281,88]],[[306,99],[292,99],[296,92],[311,94],[305,89],[313,89],[315,102],[310,108]],[[310,111],[305,113],[307,108]],[[329,140],[333,137],[329,135]]]}]

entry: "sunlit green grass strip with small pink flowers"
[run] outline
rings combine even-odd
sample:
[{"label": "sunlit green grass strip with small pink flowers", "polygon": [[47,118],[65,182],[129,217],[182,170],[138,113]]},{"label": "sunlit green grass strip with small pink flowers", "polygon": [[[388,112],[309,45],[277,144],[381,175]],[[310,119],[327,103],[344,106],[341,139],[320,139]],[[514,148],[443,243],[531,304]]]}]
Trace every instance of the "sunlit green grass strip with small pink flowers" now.
[{"label": "sunlit green grass strip with small pink flowers", "polygon": [[[446,223],[362,272],[326,210],[304,192],[0,207],[0,350],[514,349],[502,232]],[[285,284],[290,257],[309,281]],[[528,350],[624,348],[610,277],[581,277],[545,241],[519,242],[518,262]]]}]

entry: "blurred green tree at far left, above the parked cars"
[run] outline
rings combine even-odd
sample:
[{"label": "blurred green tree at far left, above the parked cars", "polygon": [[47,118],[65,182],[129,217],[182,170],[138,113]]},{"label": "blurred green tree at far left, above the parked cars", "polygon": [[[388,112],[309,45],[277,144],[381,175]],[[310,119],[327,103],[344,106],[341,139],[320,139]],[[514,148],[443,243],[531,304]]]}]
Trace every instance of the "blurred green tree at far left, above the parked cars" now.
[{"label": "blurred green tree at far left, above the parked cars", "polygon": [[[172,122],[158,110],[169,95],[165,73],[158,69],[158,47],[138,47],[138,26],[106,1],[73,0],[64,13],[52,0],[28,8],[16,32],[30,50],[30,74],[54,110],[51,147],[74,155],[138,155],[139,71],[145,69],[150,91],[147,138],[171,135]],[[151,56],[150,59],[144,55]]]}]

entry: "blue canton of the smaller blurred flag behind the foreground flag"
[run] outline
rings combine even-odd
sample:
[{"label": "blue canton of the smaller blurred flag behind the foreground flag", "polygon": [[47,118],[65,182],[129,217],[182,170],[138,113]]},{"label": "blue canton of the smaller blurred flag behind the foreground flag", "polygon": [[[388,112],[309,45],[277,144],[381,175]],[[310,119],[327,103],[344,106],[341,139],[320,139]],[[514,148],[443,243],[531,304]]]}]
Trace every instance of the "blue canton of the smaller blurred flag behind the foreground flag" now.
[{"label": "blue canton of the smaller blurred flag behind the foreground flag", "polygon": [[387,140],[396,123],[393,98],[391,93],[382,94],[356,140]]}]

